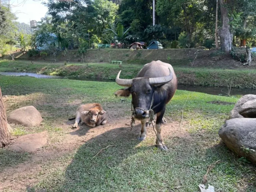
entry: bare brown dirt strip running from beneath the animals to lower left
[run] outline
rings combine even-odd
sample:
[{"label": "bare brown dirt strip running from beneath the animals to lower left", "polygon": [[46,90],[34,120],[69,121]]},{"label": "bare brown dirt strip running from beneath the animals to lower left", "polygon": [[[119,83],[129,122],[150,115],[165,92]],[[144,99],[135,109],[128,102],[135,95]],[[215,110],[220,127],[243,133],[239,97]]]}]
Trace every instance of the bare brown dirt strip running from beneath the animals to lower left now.
[{"label": "bare brown dirt strip running from beneath the animals to lower left", "polygon": [[[27,186],[35,185],[39,182],[40,172],[46,163],[50,163],[51,165],[56,164],[56,166],[65,169],[66,165],[68,165],[72,159],[68,162],[64,162],[62,165],[58,162],[58,159],[62,158],[62,156],[75,153],[81,145],[88,141],[94,142],[93,138],[95,137],[98,139],[100,137],[100,139],[104,141],[125,134],[136,139],[140,131],[140,122],[136,121],[135,127],[131,130],[129,126],[130,119],[128,117],[117,119],[113,118],[113,116],[115,115],[112,113],[112,118],[108,119],[106,125],[95,128],[89,128],[83,125],[77,129],[71,129],[74,121],[67,121],[66,124],[62,125],[64,132],[63,137],[65,137],[62,142],[48,142],[47,146],[33,153],[29,161],[14,167],[8,167],[0,173],[0,191],[3,189],[25,190]],[[190,138],[190,135],[183,130],[182,127],[178,129],[179,122],[171,122],[170,119],[167,120],[168,123],[163,125],[162,128],[163,139],[173,136]],[[150,138],[155,138],[152,125],[147,128],[147,139]],[[154,143],[152,143],[152,148],[153,145]]]}]

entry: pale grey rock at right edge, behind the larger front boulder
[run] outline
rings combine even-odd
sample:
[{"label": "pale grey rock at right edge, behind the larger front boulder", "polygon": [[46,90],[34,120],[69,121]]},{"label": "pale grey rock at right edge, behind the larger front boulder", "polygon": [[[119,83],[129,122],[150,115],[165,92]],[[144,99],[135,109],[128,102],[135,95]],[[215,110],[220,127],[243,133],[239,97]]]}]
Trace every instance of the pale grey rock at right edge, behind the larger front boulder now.
[{"label": "pale grey rock at right edge, behind the larger front boulder", "polygon": [[256,95],[244,95],[230,112],[230,119],[242,117],[256,118]]}]

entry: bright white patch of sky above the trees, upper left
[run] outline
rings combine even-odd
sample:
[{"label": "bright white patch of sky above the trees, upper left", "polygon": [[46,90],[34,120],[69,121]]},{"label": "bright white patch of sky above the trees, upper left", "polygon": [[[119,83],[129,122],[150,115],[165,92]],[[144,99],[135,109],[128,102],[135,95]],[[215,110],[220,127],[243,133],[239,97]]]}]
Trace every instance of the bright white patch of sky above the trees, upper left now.
[{"label": "bright white patch of sky above the trees, upper left", "polygon": [[47,7],[41,4],[42,0],[10,0],[12,12],[20,23],[29,24],[30,20],[40,21],[47,12]]}]

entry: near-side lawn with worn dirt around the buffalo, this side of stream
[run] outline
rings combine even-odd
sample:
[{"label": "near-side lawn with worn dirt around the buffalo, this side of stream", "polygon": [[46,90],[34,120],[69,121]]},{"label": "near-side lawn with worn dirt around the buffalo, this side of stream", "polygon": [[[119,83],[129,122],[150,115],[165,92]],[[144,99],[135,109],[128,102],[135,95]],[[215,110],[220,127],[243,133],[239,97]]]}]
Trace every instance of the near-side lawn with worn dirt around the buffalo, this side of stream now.
[{"label": "near-side lawn with worn dirt around the buffalo, this side of stream", "polygon": [[[10,76],[0,76],[0,82],[7,113],[33,105],[44,118],[38,127],[13,126],[14,137],[49,134],[47,145],[35,153],[0,149],[0,191],[194,192],[218,160],[207,175],[207,186],[223,192],[256,191],[255,167],[233,154],[217,134],[238,98],[178,90],[165,113],[168,124],[162,136],[169,151],[164,152],[154,147],[152,127],[147,128],[147,139],[139,142],[139,125],[133,130],[125,125],[131,98],[116,98],[116,83]],[[88,102],[103,105],[108,124],[72,130],[67,119],[79,104]],[[114,146],[94,157],[108,145]]]}]

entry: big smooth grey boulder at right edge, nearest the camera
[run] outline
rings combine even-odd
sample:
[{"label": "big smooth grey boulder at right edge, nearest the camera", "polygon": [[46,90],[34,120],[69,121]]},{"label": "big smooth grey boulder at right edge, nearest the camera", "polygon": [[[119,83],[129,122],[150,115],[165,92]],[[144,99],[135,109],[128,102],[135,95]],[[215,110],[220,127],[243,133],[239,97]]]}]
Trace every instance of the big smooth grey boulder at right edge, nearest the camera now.
[{"label": "big smooth grey boulder at right edge, nearest the camera", "polygon": [[229,119],[220,128],[219,136],[229,149],[256,165],[256,119]]}]

